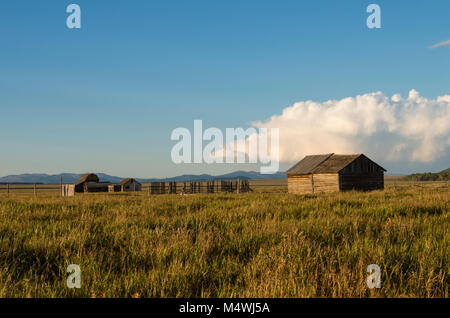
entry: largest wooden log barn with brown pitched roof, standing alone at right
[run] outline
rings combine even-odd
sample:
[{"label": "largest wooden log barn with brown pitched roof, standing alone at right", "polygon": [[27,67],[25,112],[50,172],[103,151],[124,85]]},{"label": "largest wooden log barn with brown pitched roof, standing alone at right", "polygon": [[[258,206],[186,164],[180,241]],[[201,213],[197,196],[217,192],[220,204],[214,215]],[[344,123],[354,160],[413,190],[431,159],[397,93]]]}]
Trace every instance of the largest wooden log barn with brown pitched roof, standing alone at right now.
[{"label": "largest wooden log barn with brown pitched roof, standing alone at right", "polygon": [[385,171],[363,154],[306,156],[286,171],[288,192],[308,194],[384,189]]}]

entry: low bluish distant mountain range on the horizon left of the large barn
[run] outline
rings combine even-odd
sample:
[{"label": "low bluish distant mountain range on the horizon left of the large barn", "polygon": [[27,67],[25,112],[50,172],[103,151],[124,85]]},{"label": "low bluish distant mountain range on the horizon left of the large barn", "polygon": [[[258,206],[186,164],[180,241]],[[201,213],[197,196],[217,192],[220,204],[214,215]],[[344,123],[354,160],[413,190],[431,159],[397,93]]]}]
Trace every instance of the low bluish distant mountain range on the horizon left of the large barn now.
[{"label": "low bluish distant mountain range on the horizon left of the large barn", "polygon": [[[48,174],[20,174],[20,175],[10,175],[6,177],[0,178],[0,184],[59,184],[60,179],[62,177],[63,183],[74,183],[80,179],[83,174],[76,173],[61,173],[55,175]],[[100,178],[100,181],[117,183],[122,181],[124,178],[110,176],[104,173],[96,173],[96,175]],[[278,172],[275,174],[261,174],[256,171],[235,171],[232,173],[227,173],[219,176],[212,176],[209,174],[185,174],[172,178],[164,178],[164,179],[144,179],[144,178],[136,178],[139,182],[168,182],[168,181],[211,181],[211,180],[265,180],[265,179],[286,179],[286,175],[283,172]]]}]

